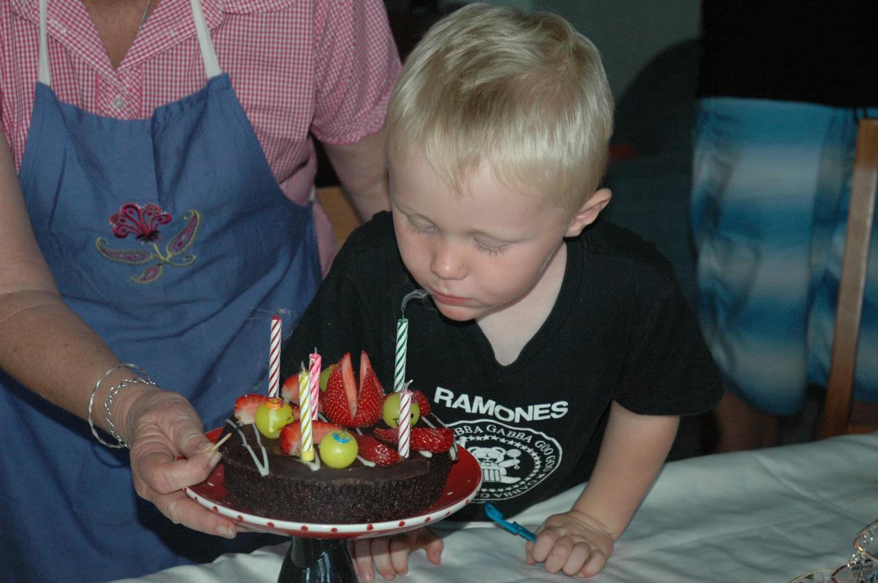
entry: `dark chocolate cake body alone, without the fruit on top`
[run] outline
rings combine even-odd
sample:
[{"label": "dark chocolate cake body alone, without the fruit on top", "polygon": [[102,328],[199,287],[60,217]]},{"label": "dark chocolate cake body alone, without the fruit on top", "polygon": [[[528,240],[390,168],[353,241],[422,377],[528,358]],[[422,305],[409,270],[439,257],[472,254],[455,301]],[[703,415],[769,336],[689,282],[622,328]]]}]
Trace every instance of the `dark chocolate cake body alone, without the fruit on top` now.
[{"label": "dark chocolate cake body alone, without the fruit on top", "polygon": [[[379,422],[380,424],[380,422]],[[435,416],[415,427],[442,427]],[[371,435],[372,428],[359,430]],[[253,425],[227,423],[223,432],[233,433],[222,445],[227,501],[253,515],[302,523],[378,523],[420,515],[442,494],[457,444],[448,452],[411,451],[407,459],[392,466],[379,466],[357,459],[351,466],[313,469],[298,457],[281,453],[278,439],[258,434]],[[258,440],[257,440],[258,437]],[[262,475],[256,459],[268,459]]]}]

